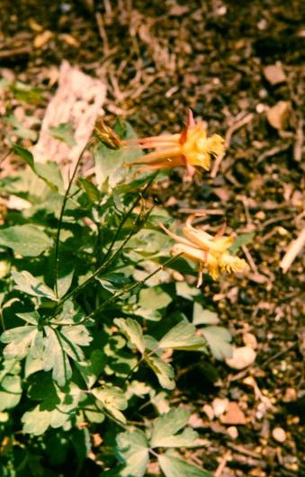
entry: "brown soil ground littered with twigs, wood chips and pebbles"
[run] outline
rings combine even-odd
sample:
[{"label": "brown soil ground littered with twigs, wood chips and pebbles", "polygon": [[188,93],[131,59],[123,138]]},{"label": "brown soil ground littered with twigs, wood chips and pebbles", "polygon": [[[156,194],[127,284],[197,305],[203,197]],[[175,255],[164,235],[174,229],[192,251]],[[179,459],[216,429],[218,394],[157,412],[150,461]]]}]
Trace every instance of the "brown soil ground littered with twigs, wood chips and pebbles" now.
[{"label": "brown soil ground littered with twigs, wood chips and pebbles", "polygon": [[[301,0],[0,0],[0,76],[41,88],[30,116],[43,117],[65,58],[107,83],[107,121],[118,115],[152,135],[180,130],[192,108],[227,139],[214,177],[182,188],[175,173],[174,185],[162,183],[155,197],[177,220],[202,209],[211,230],[225,218],[229,231],[255,233],[243,249],[250,275],[202,291],[237,346],[256,338],[256,362],[241,372],[220,362],[182,363],[175,394],[206,440],[191,458],[215,477],[305,475],[301,257],[286,274],[280,268],[301,233],[302,7]],[[284,75],[276,84],[270,65]],[[274,110],[274,127],[267,111],[279,102],[284,112]],[[4,114],[20,104],[1,107]],[[244,419],[212,419],[215,398],[236,402]]]}]

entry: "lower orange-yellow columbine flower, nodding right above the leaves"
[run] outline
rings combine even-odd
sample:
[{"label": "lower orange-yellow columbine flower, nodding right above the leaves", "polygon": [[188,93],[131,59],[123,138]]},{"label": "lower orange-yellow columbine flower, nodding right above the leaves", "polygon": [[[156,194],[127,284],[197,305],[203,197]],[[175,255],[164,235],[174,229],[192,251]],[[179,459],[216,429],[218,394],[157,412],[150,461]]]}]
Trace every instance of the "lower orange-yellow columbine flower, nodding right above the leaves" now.
[{"label": "lower orange-yellow columbine flower, nodding right above the leaves", "polygon": [[183,229],[184,237],[176,235],[159,223],[167,235],[176,240],[172,249],[173,255],[182,254],[199,265],[197,286],[202,285],[203,268],[208,270],[211,277],[216,280],[221,273],[235,273],[247,270],[247,262],[229,253],[229,247],[234,238],[223,236],[225,226],[213,237],[202,229],[195,229],[191,220],[187,220]]}]

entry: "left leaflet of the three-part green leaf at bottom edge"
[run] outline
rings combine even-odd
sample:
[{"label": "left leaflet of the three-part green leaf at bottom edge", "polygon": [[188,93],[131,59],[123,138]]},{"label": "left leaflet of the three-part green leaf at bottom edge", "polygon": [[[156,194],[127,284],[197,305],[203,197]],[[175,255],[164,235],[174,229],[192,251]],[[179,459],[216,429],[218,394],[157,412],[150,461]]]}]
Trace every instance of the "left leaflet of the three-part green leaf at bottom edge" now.
[{"label": "left leaflet of the three-part green leaf at bottom edge", "polygon": [[143,477],[149,462],[148,439],[139,429],[122,432],[117,437],[118,454],[125,464],[121,477]]}]

